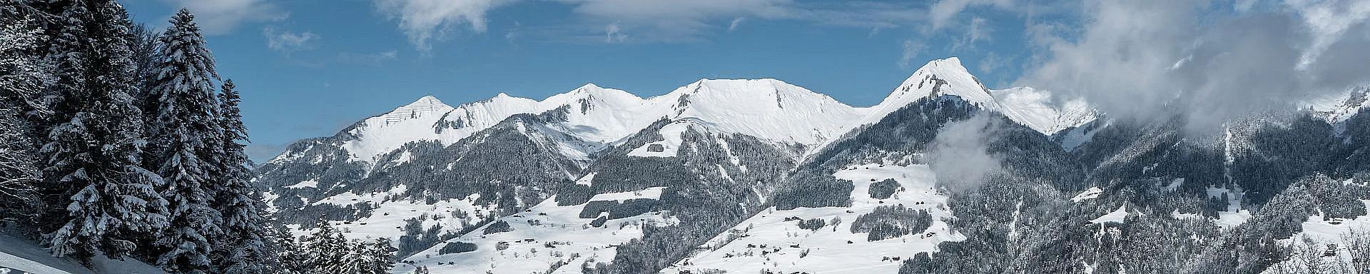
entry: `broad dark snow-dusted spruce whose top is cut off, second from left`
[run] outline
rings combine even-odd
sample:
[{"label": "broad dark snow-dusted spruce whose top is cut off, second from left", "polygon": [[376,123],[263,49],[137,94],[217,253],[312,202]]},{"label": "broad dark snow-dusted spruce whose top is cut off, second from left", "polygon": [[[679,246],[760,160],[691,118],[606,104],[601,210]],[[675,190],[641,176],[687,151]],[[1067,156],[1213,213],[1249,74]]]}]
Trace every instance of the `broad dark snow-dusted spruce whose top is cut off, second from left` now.
[{"label": "broad dark snow-dusted spruce whose top is cut off, second from left", "polygon": [[49,5],[60,15],[49,56],[60,100],[40,156],[45,193],[64,207],[47,244],[56,256],[123,258],[167,226],[162,179],[138,166],[144,125],[129,96],[129,15],[112,0]]}]

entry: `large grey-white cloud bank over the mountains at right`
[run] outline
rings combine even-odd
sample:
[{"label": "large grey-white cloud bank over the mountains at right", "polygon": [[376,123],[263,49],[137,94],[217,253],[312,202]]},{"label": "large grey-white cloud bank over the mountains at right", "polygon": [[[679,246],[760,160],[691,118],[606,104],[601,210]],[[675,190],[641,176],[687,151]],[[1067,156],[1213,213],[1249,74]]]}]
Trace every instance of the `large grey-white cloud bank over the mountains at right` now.
[{"label": "large grey-white cloud bank over the mountains at right", "polygon": [[1112,116],[1182,114],[1192,130],[1212,130],[1370,77],[1365,1],[1214,8],[1191,0],[1086,1],[1078,37],[1034,26],[1041,62],[1018,82],[1084,97]]}]

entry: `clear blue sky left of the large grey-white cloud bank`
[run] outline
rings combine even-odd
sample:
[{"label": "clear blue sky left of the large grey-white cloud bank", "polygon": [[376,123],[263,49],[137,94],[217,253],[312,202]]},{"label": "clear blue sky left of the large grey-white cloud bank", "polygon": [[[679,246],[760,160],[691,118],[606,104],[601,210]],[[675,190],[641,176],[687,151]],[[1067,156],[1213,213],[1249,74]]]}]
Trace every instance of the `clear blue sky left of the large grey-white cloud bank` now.
[{"label": "clear blue sky left of the large grey-white cloud bank", "polygon": [[[136,22],[158,27],[178,7],[197,14],[219,74],[242,92],[256,160],[423,95],[449,104],[500,92],[543,99],[593,82],[645,97],[700,78],[778,78],[870,105],[930,59],[959,56],[991,85],[1007,85],[1018,74],[1011,59],[1025,53],[1018,15],[958,16],[932,30],[932,4],[922,1],[795,7],[832,18],[684,7],[718,15],[660,19],[690,21],[680,25],[593,14],[575,1],[515,1],[486,10],[484,30],[452,15],[436,30],[445,27],[445,38],[422,42],[401,26],[404,11],[385,7],[393,3],[404,1],[125,1]],[[966,34],[974,18],[980,37]],[[989,53],[996,64],[978,66]]]}]

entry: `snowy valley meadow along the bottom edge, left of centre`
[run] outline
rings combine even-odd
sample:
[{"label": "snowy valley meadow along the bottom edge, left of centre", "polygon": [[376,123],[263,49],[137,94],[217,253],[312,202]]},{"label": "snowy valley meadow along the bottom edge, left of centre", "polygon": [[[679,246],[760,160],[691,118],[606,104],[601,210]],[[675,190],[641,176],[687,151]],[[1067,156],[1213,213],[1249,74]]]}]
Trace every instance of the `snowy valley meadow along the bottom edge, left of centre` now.
[{"label": "snowy valley meadow along the bottom edge, left of centre", "polygon": [[[593,219],[580,218],[584,207],[559,207],[556,199],[547,199],[525,212],[500,218],[508,222],[512,232],[482,234],[485,227],[481,227],[447,241],[471,242],[475,244],[475,251],[441,255],[438,251],[447,244],[440,242],[406,258],[404,260],[414,263],[400,263],[390,273],[411,273],[414,266],[426,266],[434,274],[581,273],[581,266],[586,262],[595,266],[596,262],[614,260],[618,245],[643,237],[643,226],[678,222],[663,219],[659,212],[649,212],[611,219],[601,227],[593,227],[589,225]],[[500,245],[507,247],[500,249]]]}]

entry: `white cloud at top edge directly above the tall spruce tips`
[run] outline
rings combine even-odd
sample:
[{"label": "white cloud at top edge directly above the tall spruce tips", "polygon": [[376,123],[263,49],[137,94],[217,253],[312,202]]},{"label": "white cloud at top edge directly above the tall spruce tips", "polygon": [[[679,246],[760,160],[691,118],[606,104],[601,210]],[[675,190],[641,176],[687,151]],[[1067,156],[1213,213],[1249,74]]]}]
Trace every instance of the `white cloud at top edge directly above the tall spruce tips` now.
[{"label": "white cloud at top edge directly above the tall spruce tips", "polygon": [[290,14],[266,0],[167,0],[195,12],[204,34],[226,34],[245,22],[270,22]]}]

